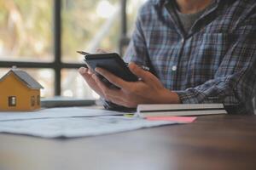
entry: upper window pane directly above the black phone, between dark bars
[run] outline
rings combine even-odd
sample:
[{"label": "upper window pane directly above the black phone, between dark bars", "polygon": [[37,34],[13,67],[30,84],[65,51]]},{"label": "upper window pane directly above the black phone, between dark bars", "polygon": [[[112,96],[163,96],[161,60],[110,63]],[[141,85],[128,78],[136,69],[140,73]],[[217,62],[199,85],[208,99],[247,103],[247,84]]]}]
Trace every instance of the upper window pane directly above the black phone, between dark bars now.
[{"label": "upper window pane directly above the black phone, between dark bars", "polygon": [[120,29],[119,0],[63,0],[62,61],[83,62],[77,50],[116,52]]}]

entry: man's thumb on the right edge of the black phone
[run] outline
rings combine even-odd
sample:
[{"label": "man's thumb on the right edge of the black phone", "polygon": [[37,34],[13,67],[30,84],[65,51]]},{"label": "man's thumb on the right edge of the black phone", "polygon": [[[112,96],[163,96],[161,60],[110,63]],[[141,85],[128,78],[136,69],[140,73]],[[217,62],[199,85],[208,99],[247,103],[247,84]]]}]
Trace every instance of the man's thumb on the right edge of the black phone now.
[{"label": "man's thumb on the right edge of the black phone", "polygon": [[135,74],[137,77],[142,78],[143,82],[151,82],[152,81],[152,74],[148,71],[143,71],[142,68],[140,68],[135,63],[129,64],[130,71]]}]

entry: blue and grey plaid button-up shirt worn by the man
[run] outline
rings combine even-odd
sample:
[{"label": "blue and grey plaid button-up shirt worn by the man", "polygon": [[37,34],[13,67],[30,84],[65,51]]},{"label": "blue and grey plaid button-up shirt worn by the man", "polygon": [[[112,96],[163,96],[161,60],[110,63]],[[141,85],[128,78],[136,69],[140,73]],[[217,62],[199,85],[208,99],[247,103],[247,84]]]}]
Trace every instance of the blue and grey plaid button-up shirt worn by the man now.
[{"label": "blue and grey plaid button-up shirt worn by the man", "polygon": [[253,113],[256,81],[255,0],[216,0],[183,31],[174,0],[140,9],[125,61],[146,65],[183,104],[223,103],[230,113]]}]

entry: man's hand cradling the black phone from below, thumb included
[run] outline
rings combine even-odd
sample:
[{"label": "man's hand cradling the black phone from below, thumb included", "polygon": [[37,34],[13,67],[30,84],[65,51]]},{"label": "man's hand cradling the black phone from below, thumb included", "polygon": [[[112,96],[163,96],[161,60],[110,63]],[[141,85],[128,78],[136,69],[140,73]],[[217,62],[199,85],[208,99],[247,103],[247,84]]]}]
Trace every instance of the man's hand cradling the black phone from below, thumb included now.
[{"label": "man's hand cradling the black phone from below, thumb included", "polygon": [[164,88],[159,79],[154,77],[152,73],[143,71],[134,63],[131,63],[129,68],[133,74],[140,78],[140,81],[125,82],[109,71],[96,68],[96,72],[107,78],[109,82],[112,82],[119,89],[108,88],[95,74],[82,73],[82,76],[97,94],[117,105],[135,108],[139,104],[180,103],[178,95]]}]

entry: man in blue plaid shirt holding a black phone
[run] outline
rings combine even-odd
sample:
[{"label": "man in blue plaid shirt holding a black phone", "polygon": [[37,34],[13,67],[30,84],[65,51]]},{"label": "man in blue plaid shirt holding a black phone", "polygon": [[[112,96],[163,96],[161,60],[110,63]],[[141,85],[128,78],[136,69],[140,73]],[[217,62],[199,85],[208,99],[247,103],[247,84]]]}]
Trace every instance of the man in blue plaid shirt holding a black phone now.
[{"label": "man in blue plaid shirt holding a black phone", "polygon": [[96,69],[120,89],[79,70],[108,108],[223,103],[230,113],[252,114],[255,0],[149,0],[138,14],[125,61],[140,81],[125,82]]}]

